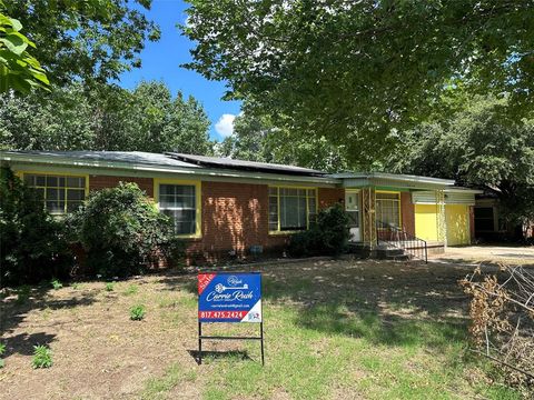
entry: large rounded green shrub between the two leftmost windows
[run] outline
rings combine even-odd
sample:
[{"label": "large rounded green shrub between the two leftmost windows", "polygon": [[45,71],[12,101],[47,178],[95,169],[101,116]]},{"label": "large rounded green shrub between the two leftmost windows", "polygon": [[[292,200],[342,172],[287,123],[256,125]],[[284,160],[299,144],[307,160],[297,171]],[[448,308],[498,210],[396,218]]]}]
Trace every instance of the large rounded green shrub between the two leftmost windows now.
[{"label": "large rounded green shrub between the two leftmost windows", "polygon": [[174,238],[169,218],[136,183],[92,192],[69,226],[87,251],[87,266],[107,278],[140,273]]}]

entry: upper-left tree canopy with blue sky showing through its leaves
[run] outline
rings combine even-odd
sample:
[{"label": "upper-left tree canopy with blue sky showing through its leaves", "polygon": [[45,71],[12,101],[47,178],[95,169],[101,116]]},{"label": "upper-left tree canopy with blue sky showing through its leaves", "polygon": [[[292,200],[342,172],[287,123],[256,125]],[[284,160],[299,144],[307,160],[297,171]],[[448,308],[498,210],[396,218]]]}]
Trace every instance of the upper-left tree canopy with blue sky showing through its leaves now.
[{"label": "upper-left tree canopy with blue sky showing through its leaves", "polygon": [[[140,67],[139,52],[159,39],[145,16],[151,0],[4,0],[36,43],[53,86],[106,82]],[[134,3],[135,7],[131,7]]]}]

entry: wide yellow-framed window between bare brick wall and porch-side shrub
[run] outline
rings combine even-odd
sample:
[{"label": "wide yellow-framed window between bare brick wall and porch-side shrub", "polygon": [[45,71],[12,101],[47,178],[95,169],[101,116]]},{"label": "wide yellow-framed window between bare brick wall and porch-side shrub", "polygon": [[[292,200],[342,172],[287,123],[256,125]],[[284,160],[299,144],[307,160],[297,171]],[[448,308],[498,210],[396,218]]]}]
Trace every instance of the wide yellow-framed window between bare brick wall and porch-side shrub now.
[{"label": "wide yellow-framed window between bare brick wall and porch-side shrub", "polygon": [[317,189],[269,188],[269,231],[308,229],[317,220]]}]

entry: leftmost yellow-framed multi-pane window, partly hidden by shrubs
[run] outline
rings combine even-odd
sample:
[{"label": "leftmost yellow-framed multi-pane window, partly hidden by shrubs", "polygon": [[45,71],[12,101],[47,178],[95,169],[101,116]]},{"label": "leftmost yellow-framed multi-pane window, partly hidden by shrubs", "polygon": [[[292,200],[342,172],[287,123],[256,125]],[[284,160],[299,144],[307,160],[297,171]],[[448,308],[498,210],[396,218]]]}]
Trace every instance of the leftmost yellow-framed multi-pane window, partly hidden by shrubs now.
[{"label": "leftmost yellow-framed multi-pane window, partly hidden by shrubs", "polygon": [[77,210],[86,199],[86,178],[24,173],[24,183],[36,189],[39,200],[52,214]]}]

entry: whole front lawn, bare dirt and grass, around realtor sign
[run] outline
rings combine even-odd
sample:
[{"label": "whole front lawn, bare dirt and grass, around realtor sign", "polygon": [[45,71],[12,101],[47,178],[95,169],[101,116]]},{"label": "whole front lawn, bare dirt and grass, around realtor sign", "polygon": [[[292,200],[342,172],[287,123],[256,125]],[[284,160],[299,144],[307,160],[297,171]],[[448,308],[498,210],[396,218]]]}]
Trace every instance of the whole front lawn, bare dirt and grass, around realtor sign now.
[{"label": "whole front lawn, bare dirt and grass, around realtor sign", "polygon": [[[2,299],[6,399],[517,399],[471,357],[468,269],[309,260],[263,266],[266,366],[257,342],[197,349],[196,276],[31,288]],[[142,304],[146,317],[130,320]],[[254,324],[207,333],[254,334]],[[32,369],[34,344],[53,366]]]}]

